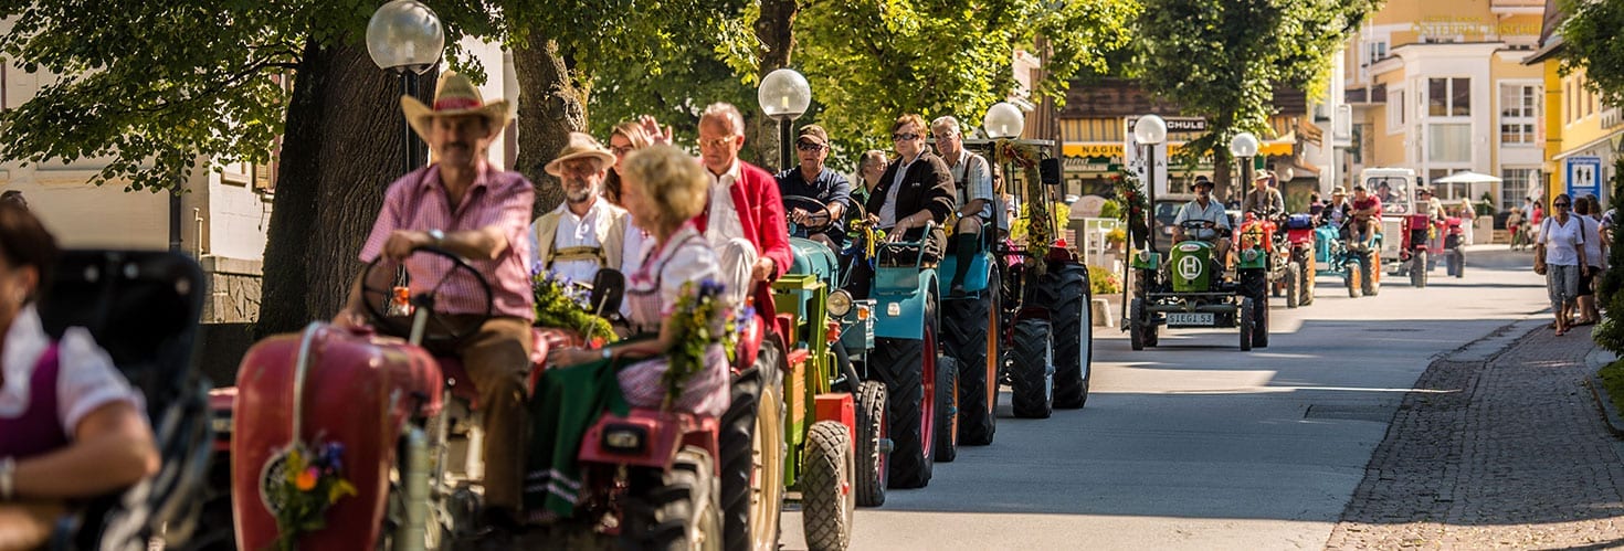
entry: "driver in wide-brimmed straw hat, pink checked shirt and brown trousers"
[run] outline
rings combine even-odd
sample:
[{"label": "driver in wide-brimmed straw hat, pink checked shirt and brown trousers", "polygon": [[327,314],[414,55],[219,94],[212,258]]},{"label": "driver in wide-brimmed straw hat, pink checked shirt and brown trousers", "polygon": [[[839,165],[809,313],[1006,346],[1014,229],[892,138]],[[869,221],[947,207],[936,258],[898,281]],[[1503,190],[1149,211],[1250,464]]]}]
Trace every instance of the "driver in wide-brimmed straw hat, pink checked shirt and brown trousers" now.
[{"label": "driver in wide-brimmed straw hat, pink checked shirt and brown trousers", "polygon": [[[484,319],[487,309],[492,312],[471,335],[429,348],[461,358],[479,390],[486,432],[486,520],[494,530],[490,536],[503,538],[518,530],[515,518],[523,486],[521,406],[534,319],[526,231],[534,190],[518,172],[500,171],[486,161],[512,111],[507,101],[486,102],[466,76],[443,73],[432,106],[401,96],[401,111],[417,137],[429,143],[435,163],[390,184],[361,260],[382,255],[403,262],[414,294],[437,286],[437,317],[453,327]],[[490,302],[466,270],[453,270],[438,257],[412,255],[421,247],[471,258],[469,265],[490,283]],[[369,288],[387,289],[388,284],[372,281]],[[333,319],[336,325],[364,323],[361,289],[357,278],[349,304]]]}]

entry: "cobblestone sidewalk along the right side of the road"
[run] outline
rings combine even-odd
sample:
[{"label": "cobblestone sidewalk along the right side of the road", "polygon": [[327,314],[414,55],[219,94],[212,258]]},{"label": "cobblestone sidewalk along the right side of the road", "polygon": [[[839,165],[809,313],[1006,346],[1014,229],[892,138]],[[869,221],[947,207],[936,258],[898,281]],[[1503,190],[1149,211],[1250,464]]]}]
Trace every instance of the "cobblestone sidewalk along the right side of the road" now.
[{"label": "cobblestone sidewalk along the right side of the road", "polygon": [[1327,548],[1624,546],[1624,460],[1582,385],[1593,348],[1588,327],[1538,328],[1499,354],[1436,361]]}]

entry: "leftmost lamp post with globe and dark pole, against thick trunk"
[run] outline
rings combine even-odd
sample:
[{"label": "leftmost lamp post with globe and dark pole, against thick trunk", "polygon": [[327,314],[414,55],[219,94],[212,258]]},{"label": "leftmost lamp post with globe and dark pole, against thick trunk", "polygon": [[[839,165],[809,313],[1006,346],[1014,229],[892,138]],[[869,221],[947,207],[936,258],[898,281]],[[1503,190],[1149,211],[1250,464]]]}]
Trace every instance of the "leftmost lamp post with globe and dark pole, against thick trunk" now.
[{"label": "leftmost lamp post with globe and dark pole, against thick trunk", "polygon": [[[416,96],[417,75],[440,62],[445,50],[445,29],[440,18],[417,0],[393,0],[378,7],[367,21],[367,54],[378,68],[400,75],[401,96]],[[411,124],[401,115],[404,132],[404,172],[411,172],[427,159],[427,151],[412,140]],[[422,151],[424,154],[417,154]]]}]

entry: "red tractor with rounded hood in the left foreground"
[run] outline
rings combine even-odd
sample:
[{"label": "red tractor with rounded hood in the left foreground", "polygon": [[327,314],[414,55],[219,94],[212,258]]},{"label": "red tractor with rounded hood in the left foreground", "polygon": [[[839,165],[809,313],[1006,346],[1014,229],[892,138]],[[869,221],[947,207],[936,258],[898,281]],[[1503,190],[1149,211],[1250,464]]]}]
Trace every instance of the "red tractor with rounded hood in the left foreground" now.
[{"label": "red tractor with rounded hood in the left foreground", "polygon": [[[440,255],[453,271],[479,276],[448,252],[427,247],[416,254]],[[369,276],[377,267],[369,265]],[[591,301],[599,312],[617,309],[624,283],[615,280],[619,273],[606,270],[594,281]],[[489,304],[489,283],[479,281]],[[435,289],[414,291],[412,314],[403,319],[383,306],[391,289],[362,286],[374,327],[396,336],[315,322],[302,333],[266,338],[244,358],[231,421],[240,549],[265,549],[278,541],[278,512],[296,505],[279,488],[289,479],[287,470],[330,453],[341,455],[336,475],[348,481],[351,494],[331,501],[318,515],[325,528],[304,531],[294,541],[297,548],[440,549],[477,528],[482,436],[473,419],[481,414],[479,393],[456,359],[435,358],[422,343],[458,338],[479,323],[453,325],[434,312]],[[744,325],[739,364],[757,369],[781,358],[767,351],[775,343],[763,343],[758,319]],[[580,335],[564,330],[536,328],[533,336],[531,387],[551,348],[585,345]],[[640,549],[723,541],[721,488],[729,473],[721,470],[731,466],[721,462],[719,427],[715,416],[677,411],[604,413],[577,455],[581,505],[575,520],[554,525],[546,536],[617,538],[620,546]],[[339,452],[333,444],[341,445]],[[739,468],[749,470],[750,462]]]}]

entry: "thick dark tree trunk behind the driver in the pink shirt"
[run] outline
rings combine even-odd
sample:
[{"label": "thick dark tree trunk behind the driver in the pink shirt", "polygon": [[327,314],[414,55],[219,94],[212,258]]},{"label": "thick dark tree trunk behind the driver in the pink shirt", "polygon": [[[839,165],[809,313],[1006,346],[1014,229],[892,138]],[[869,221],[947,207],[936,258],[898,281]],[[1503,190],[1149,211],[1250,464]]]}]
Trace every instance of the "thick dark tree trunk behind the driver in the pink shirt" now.
[{"label": "thick dark tree trunk behind the driver in the pink shirt", "polygon": [[[404,163],[400,76],[364,46],[305,42],[283,138],[265,245],[258,336],[330,319],[349,297],[356,257]],[[434,83],[435,73],[422,83]],[[434,86],[419,86],[432,94]],[[416,135],[411,140],[417,140]]]}]

